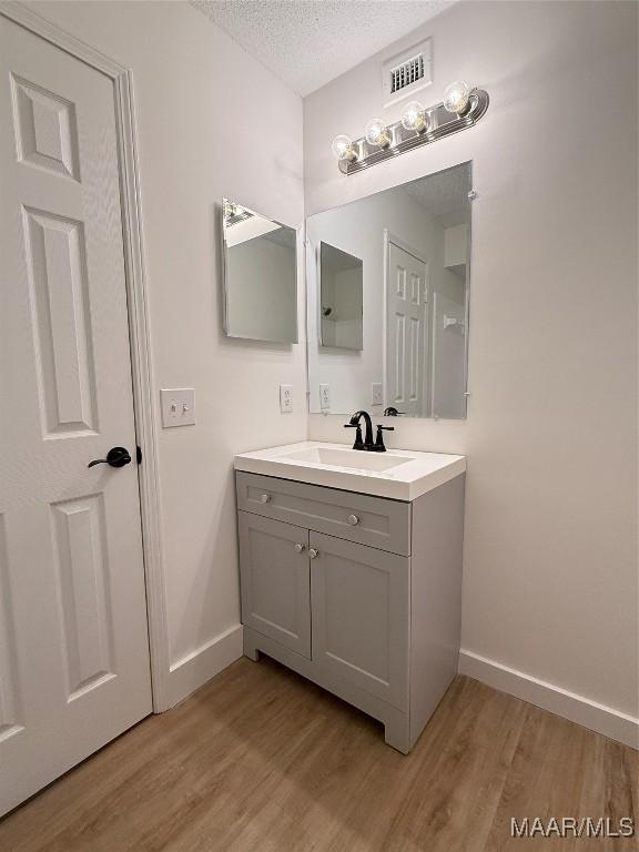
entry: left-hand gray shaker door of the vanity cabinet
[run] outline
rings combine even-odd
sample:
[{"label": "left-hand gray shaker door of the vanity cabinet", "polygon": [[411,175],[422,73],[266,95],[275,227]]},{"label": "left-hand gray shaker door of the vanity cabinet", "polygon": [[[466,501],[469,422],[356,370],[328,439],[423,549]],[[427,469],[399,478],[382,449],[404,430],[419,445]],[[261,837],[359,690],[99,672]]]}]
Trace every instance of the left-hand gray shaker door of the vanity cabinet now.
[{"label": "left-hand gray shaker door of the vanity cabinet", "polygon": [[239,513],[242,622],[311,658],[308,530]]}]

